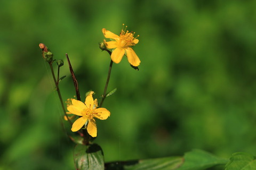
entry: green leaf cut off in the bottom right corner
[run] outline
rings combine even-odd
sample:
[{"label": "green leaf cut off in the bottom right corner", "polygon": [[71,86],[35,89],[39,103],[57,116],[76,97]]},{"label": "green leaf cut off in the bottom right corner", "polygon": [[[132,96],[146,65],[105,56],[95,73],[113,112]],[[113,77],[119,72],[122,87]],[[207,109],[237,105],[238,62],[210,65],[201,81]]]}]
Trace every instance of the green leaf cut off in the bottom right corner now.
[{"label": "green leaf cut off in the bottom right corner", "polygon": [[236,152],[232,154],[225,170],[251,170],[256,169],[255,156],[246,152]]}]

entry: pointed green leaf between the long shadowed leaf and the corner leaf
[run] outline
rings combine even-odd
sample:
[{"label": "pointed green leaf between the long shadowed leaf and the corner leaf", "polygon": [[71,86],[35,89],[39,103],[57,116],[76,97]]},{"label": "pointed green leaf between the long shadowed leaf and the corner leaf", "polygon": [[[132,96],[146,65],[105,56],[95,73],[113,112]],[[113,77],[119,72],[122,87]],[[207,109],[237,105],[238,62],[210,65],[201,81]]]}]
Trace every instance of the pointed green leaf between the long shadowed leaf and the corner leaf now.
[{"label": "pointed green leaf between the long shadowed leaf and the corner leaf", "polygon": [[206,169],[217,165],[225,165],[228,162],[227,159],[219,158],[209,152],[198,149],[187,152],[184,159],[184,164],[178,170]]}]

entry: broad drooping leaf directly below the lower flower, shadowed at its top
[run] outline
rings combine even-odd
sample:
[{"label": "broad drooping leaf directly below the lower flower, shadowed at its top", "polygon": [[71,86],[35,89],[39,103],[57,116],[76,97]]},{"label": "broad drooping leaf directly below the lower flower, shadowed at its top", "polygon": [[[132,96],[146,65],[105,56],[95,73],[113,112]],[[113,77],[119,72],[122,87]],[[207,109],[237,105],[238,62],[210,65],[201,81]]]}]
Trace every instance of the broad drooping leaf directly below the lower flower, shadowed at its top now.
[{"label": "broad drooping leaf directly below the lower flower, shadowed at its top", "polygon": [[97,144],[76,145],[74,149],[74,162],[77,170],[103,170],[103,151]]}]

